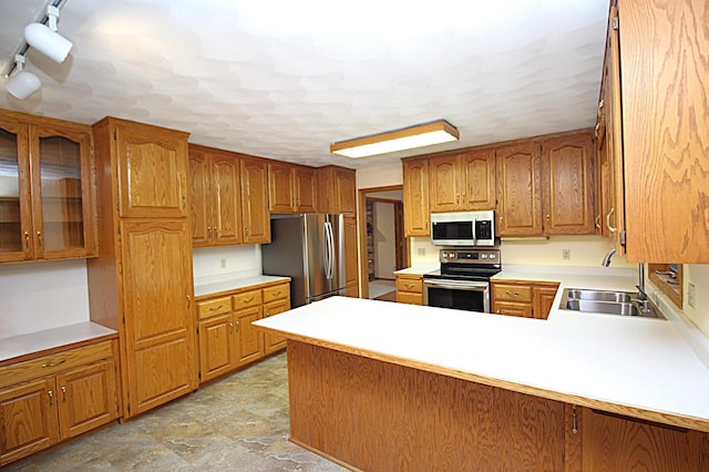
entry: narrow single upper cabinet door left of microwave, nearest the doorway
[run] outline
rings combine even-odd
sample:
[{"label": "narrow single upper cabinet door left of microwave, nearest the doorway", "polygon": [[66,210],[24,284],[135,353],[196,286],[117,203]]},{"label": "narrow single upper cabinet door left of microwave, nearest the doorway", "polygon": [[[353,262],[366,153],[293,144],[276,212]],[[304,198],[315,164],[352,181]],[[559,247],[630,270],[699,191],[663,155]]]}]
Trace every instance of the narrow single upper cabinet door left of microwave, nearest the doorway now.
[{"label": "narrow single upper cabinet door left of microwave, nearest the doorway", "polygon": [[429,162],[403,161],[403,226],[407,237],[429,236]]}]

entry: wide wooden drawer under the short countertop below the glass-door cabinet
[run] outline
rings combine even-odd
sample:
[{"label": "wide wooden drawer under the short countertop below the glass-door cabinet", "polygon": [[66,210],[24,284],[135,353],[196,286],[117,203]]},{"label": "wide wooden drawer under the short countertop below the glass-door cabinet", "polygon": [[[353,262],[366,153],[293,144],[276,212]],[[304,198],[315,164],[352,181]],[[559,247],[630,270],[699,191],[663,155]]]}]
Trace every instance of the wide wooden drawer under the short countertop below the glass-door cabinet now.
[{"label": "wide wooden drawer under the short countertop below the glass-door cabinet", "polygon": [[111,341],[102,341],[12,363],[0,368],[0,388],[111,357],[113,357]]}]

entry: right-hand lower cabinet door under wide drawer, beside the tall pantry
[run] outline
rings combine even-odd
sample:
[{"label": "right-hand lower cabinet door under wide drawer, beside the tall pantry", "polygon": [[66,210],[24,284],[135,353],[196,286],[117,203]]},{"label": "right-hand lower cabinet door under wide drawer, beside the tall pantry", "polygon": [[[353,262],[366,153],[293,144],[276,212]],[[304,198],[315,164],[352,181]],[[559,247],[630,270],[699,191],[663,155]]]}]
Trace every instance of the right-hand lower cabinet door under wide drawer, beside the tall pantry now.
[{"label": "right-hand lower cabinet door under wide drawer, beside the tall pantry", "polygon": [[82,366],[56,376],[61,439],[115,420],[119,403],[112,360]]}]

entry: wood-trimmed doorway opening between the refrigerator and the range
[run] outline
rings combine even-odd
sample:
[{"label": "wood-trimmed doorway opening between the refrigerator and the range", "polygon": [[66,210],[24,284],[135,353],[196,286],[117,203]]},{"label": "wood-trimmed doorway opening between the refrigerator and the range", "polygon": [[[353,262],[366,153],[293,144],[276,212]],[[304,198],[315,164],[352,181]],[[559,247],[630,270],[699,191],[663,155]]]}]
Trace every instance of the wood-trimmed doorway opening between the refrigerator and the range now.
[{"label": "wood-trimmed doorway opening between the refrigerator and the range", "polygon": [[361,188],[359,203],[362,297],[394,301],[393,273],[409,267],[402,186]]}]

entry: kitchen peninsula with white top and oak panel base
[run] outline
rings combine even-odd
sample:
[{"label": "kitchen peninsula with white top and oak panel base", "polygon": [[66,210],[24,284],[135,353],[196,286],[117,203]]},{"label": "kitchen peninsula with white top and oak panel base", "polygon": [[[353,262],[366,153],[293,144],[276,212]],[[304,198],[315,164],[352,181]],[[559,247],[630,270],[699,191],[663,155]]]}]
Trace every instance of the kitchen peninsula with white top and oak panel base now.
[{"label": "kitchen peninsula with white top and oak panel base", "polygon": [[288,338],[291,441],[349,468],[707,470],[709,370],[675,322],[561,293],[547,320],[335,297],[255,325]]}]

